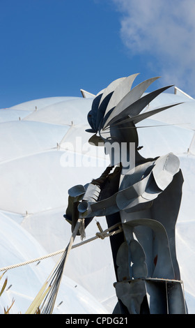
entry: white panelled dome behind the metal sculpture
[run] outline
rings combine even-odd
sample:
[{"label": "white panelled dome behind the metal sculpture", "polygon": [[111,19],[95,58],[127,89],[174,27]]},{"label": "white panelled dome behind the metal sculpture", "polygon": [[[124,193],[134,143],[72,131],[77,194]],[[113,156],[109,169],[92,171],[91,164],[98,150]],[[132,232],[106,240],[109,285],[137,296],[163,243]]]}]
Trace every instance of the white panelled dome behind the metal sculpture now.
[{"label": "white panelled dome behind the metal sculpture", "polygon": [[[93,98],[43,98],[0,110],[0,267],[31,260],[67,246],[71,228],[63,214],[68,204],[68,188],[99,177],[107,163],[103,149],[87,144],[91,135],[85,129],[88,128],[87,114],[92,101]],[[144,122],[145,126],[156,126],[139,128],[138,133],[143,156],[159,156],[172,151],[180,158],[185,183],[176,225],[176,246],[189,313],[195,313],[195,283],[192,278],[195,251],[195,101],[185,96],[162,94],[153,100],[149,110],[159,103],[180,101],[186,103],[138,124],[143,126]],[[78,141],[81,141],[79,146]],[[69,147],[70,142],[73,149]],[[68,167],[68,154],[80,166]],[[97,158],[98,166],[95,165]],[[88,166],[84,165],[87,163]],[[102,228],[107,228],[104,218],[98,218],[98,221]],[[86,228],[86,239],[93,237],[97,231],[94,219]],[[80,242],[79,237],[77,242]],[[52,270],[54,260],[42,260],[38,266],[29,264],[10,269],[6,275],[8,285],[12,287],[1,296],[1,308],[9,305],[14,297],[13,313],[24,313],[28,303],[26,299],[31,301],[36,295],[45,282],[45,276]],[[55,308],[56,313],[111,313],[116,304],[115,279],[109,239],[98,239],[73,249],[65,267],[56,306],[64,301]],[[75,285],[79,287],[75,288]],[[67,297],[68,302],[65,301]]]}]

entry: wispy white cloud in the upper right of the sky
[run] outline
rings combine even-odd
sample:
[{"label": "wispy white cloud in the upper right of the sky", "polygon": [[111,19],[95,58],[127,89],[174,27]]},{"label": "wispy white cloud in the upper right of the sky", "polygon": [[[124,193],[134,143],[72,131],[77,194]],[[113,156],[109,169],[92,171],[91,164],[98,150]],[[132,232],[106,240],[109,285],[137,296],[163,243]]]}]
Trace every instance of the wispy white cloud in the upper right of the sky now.
[{"label": "wispy white cloud in the upper right of the sky", "polygon": [[150,65],[161,67],[164,82],[171,80],[195,96],[195,1],[112,1],[121,13],[120,36],[131,54],[150,55]]}]

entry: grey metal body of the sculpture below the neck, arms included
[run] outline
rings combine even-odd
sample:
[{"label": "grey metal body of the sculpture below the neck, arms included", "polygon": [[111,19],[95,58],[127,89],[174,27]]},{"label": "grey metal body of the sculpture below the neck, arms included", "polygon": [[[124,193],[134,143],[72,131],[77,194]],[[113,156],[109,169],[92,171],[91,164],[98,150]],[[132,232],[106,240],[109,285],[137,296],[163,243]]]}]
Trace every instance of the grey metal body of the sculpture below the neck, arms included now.
[{"label": "grey metal body of the sculpture below the neck, arms included", "polygon": [[167,154],[137,163],[125,175],[116,167],[97,201],[100,187],[72,187],[72,204],[77,207],[81,194],[80,204],[88,204],[80,213],[86,225],[94,216],[106,216],[109,228],[122,224],[123,232],[110,237],[118,297],[114,313],[186,313],[175,243],[182,183],[178,158]]}]

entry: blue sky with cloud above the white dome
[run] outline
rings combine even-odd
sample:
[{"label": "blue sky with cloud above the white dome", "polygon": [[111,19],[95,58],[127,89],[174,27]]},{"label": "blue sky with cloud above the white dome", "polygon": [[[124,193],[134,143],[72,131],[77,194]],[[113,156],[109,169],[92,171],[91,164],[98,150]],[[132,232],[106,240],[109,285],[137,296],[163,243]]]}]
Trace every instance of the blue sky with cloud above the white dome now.
[{"label": "blue sky with cloud above the white dome", "polygon": [[0,0],[0,107],[134,73],[194,96],[194,15],[194,0]]}]

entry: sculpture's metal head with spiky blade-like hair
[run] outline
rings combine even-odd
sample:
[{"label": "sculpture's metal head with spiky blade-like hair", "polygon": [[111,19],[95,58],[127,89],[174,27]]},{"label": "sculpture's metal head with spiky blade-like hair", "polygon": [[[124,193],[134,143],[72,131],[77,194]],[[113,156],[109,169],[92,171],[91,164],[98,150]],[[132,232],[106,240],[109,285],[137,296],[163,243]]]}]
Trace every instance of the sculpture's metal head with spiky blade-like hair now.
[{"label": "sculpture's metal head with spiky blade-like hair", "polygon": [[172,86],[143,95],[150,84],[159,77],[141,82],[131,89],[137,75],[119,78],[95,96],[91,111],[88,113],[88,123],[91,129],[86,130],[94,133],[89,140],[91,144],[104,146],[106,143],[126,142],[127,144],[134,143],[134,149],[138,149],[139,138],[136,124],[157,112],[178,105],[175,103],[149,112],[142,112],[154,98]]}]

